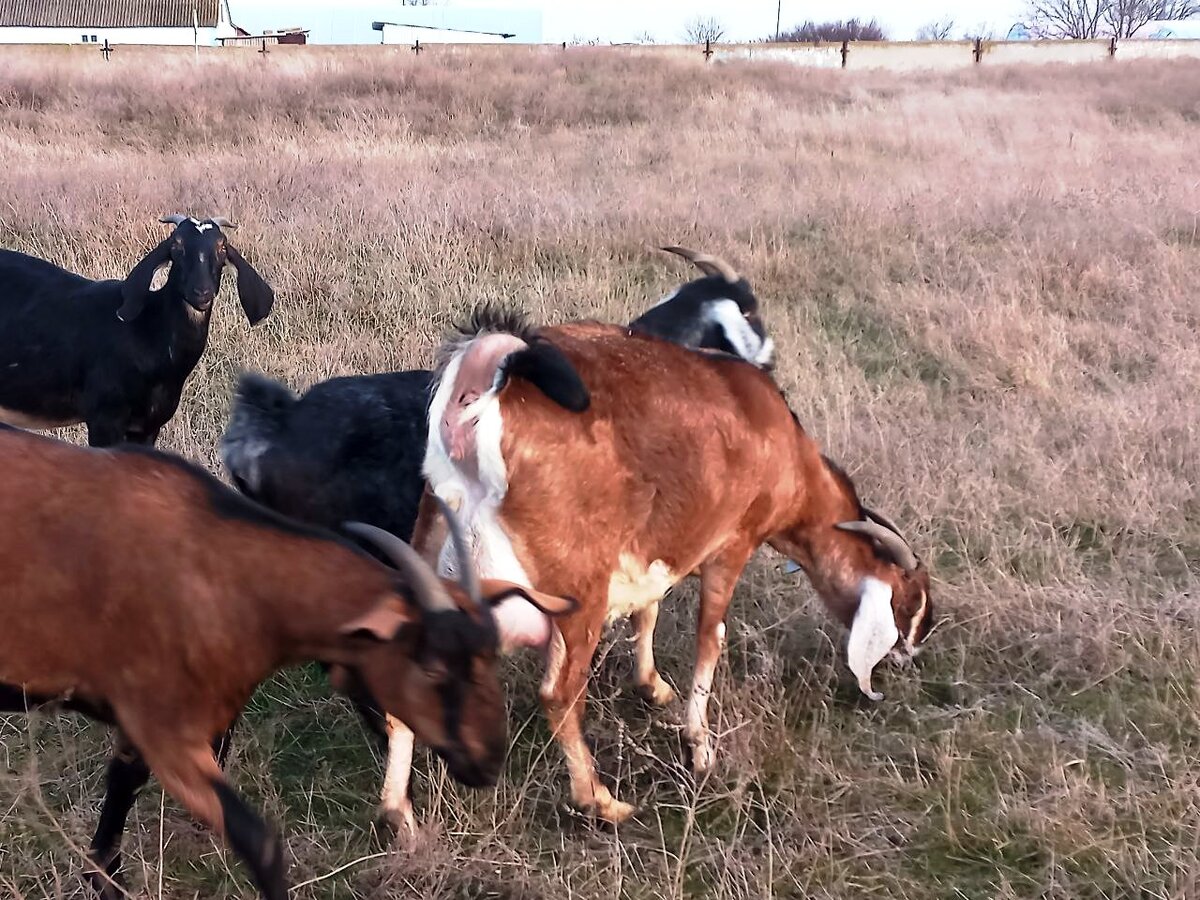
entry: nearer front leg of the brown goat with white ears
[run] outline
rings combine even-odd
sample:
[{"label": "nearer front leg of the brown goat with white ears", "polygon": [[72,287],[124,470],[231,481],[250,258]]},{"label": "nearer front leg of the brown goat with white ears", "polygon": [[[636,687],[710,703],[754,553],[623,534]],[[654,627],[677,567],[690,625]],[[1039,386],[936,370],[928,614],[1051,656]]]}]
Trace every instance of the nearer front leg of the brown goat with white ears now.
[{"label": "nearer front leg of the brown goat with white ears", "polygon": [[708,733],[708,697],[713,692],[716,664],[725,649],[725,613],[733,587],[750,558],[751,550],[727,548],[706,562],[700,570],[700,622],[696,625],[696,672],[688,703],[688,742],[691,767],[707,772],[713,764],[713,743]]}]

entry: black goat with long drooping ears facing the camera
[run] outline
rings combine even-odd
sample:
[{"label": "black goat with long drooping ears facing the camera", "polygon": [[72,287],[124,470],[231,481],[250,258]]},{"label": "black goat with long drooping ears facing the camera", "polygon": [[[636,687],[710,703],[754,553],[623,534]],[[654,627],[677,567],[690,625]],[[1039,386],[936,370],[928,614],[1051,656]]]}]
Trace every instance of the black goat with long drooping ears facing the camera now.
[{"label": "black goat with long drooping ears facing the camera", "polygon": [[[224,218],[167,216],[170,235],[124,281],[92,281],[0,250],[0,422],[84,422],[88,443],[152,445],[175,414],[209,337],[226,264],[254,325],[275,294],[226,239]],[[150,289],[170,265],[167,283]]]}]

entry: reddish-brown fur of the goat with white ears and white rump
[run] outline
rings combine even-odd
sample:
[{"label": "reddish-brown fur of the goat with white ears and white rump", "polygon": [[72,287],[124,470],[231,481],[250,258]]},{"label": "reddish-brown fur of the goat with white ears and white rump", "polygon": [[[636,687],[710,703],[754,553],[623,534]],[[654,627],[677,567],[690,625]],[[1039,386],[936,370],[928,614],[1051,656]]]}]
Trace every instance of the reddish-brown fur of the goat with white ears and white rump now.
[{"label": "reddish-brown fur of the goat with white ears and white rump", "polygon": [[[911,619],[928,598],[929,576],[924,568],[904,572],[870,539],[834,527],[863,518],[853,485],[821,456],[778,386],[752,365],[594,323],[540,335],[574,365],[592,404],[566,413],[520,379],[503,390],[509,487],[500,522],[530,581],[580,602],[557,620],[562,646],[551,648],[542,700],[575,800],[620,820],[631,808],[596,780],[581,718],[622,554],[643,565],[662,560],[679,577],[701,575],[692,696],[698,706],[689,722],[697,768],[710,760],[704,709],[722,622],[737,578],[761,544],[798,562],[846,625],[860,582],[874,576],[893,589],[900,634],[924,637],[931,604],[916,626]],[[424,539],[426,526],[419,523],[416,533]],[[668,700],[646,634],[654,614],[634,618],[638,679],[652,697]]]}]

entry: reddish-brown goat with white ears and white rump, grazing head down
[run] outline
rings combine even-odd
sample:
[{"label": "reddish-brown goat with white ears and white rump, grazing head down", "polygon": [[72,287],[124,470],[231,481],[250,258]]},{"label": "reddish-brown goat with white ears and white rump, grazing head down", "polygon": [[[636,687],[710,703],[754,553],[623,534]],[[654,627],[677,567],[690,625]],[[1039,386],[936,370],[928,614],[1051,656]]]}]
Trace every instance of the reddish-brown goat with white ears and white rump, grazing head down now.
[{"label": "reddish-brown goat with white ears and white rump, grazing head down", "polygon": [[[522,354],[524,365],[512,365]],[[529,378],[530,360],[556,355],[574,367],[576,390],[590,395],[583,412],[564,410]],[[566,377],[560,364],[557,377]],[[908,544],[862,505],[770,377],[727,355],[611,325],[533,330],[514,326],[511,314],[476,313],[444,348],[425,474],[461,512],[484,574],[578,600],[557,629],[520,599],[496,614],[502,647],[546,646],[541,698],[574,799],[606,820],[632,812],[598,780],[582,732],[588,671],[607,622],[632,618],[640,688],[670,702],[674,691],[654,665],[659,601],[698,572],[686,725],[697,772],[713,760],[707,707],[726,610],[761,544],[796,560],[850,628],[850,668],[875,700],[876,664],[893,652],[912,656],[932,625],[929,574]],[[418,550],[439,542],[430,511],[424,502]],[[439,565],[455,569],[446,550]]]}]

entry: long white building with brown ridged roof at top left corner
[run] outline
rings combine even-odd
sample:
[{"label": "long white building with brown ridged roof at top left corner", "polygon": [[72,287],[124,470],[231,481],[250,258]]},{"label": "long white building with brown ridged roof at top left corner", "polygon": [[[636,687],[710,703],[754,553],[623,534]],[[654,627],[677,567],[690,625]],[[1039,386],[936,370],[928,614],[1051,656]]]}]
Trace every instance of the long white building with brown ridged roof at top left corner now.
[{"label": "long white building with brown ridged roof at top left corner", "polygon": [[0,0],[0,43],[212,46],[229,0]]}]

